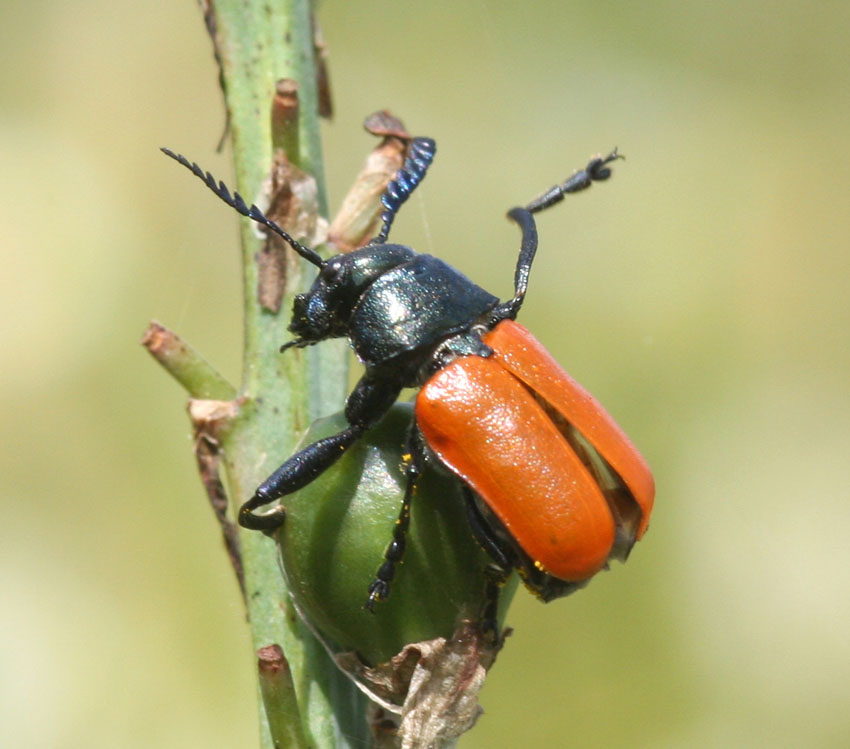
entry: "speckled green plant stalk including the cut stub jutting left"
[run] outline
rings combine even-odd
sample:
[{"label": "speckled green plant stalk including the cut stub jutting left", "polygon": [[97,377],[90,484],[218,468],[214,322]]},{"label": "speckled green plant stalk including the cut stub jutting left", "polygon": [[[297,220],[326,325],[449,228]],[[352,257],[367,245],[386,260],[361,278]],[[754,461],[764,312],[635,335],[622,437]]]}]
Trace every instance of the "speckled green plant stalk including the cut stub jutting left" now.
[{"label": "speckled green plant stalk including the cut stub jutting left", "polygon": [[[316,202],[324,212],[309,1],[202,0],[201,5],[221,71],[236,189],[249,203],[257,202],[275,149],[288,147],[289,163],[315,179]],[[273,127],[272,102],[281,79],[297,83],[297,116]],[[190,347],[178,345],[179,339],[169,343],[168,355],[157,355],[145,340],[151,353],[191,395],[223,399],[194,401],[191,413],[196,445],[205,446],[202,478],[211,501],[215,506],[216,497],[223,494],[215,475],[222,461],[231,515],[293,452],[298,436],[314,418],[341,407],[347,382],[344,342],[319,347],[321,351],[278,353],[289,338],[286,326],[292,298],[309,284],[315,269],[303,260],[288,263],[282,303],[279,311],[270,311],[258,299],[257,256],[262,240],[247,219],[241,222],[241,240],[244,349],[236,399],[232,400],[233,388]],[[199,418],[195,413],[206,416]],[[232,522],[223,513],[219,520],[225,536],[230,531],[235,538]],[[260,668],[261,746],[367,745],[367,701],[293,611],[274,542],[256,531],[240,529],[238,542],[231,546],[237,569],[241,552],[254,651],[274,652],[278,646],[281,662],[286,664],[286,668],[270,670],[268,664]]]}]

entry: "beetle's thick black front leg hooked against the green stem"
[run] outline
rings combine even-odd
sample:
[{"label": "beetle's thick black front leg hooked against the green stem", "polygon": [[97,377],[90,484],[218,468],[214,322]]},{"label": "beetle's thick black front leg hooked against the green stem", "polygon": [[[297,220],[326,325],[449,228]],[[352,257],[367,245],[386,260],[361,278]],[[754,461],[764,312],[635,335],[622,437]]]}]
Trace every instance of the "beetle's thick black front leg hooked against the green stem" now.
[{"label": "beetle's thick black front leg hooked against the green stem", "polygon": [[283,507],[275,507],[263,514],[257,514],[254,510],[298,491],[330,468],[366,430],[380,420],[395,403],[400,391],[401,387],[395,381],[365,374],[351,391],[345,405],[345,416],[351,426],[339,434],[308,445],[289,458],[239,508],[239,525],[267,532],[280,528],[286,517]]}]

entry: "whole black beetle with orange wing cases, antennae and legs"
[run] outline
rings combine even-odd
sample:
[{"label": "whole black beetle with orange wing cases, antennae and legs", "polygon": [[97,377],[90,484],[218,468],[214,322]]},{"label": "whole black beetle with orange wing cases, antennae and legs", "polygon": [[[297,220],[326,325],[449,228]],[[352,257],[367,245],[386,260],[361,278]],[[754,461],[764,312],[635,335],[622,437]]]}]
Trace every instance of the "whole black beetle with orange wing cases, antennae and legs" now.
[{"label": "whole black beetle with orange wing cases, antennae and legs", "polygon": [[239,523],[272,533],[292,494],[327,470],[389,410],[419,388],[404,450],[406,488],[366,608],[389,595],[426,463],[457,477],[470,528],[494,562],[493,597],[516,569],[543,601],[582,587],[611,558],[624,560],[646,531],[654,501],[644,459],[602,406],[515,322],[537,251],[534,214],[611,176],[614,149],[508,218],[522,239],[514,295],[501,301],[439,258],[388,242],[393,220],[433,161],[430,138],[411,140],[383,196],[382,226],[364,247],[322,258],[197,164],[162,149],[224,202],[281,236],[318,268],[295,297],[281,347],[347,337],[365,372],[348,396],[348,426],[297,452],[239,510]]}]

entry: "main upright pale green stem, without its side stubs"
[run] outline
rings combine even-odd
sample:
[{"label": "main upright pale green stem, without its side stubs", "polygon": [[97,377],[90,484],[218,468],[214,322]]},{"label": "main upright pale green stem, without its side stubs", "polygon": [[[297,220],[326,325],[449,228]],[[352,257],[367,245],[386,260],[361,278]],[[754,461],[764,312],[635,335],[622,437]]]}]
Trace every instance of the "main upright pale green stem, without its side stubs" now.
[{"label": "main upright pale green stem, without its side stubs", "polygon": [[[211,22],[211,23],[210,23]],[[208,9],[228,108],[237,189],[251,202],[272,164],[270,124],[275,83],[298,82],[297,154],[291,163],[311,174],[324,210],[322,158],[318,132],[316,75],[310,4],[307,0],[213,0]],[[257,299],[261,249],[254,226],[241,226],[244,268],[244,350],[239,415],[223,435],[224,463],[231,505],[238,507],[288,456],[297,435],[319,413],[330,413],[345,395],[345,349],[324,347],[321,354],[294,350],[278,354],[292,296],[312,273],[291,272],[280,313],[264,310]],[[304,266],[304,261],[301,261]],[[306,270],[306,269],[305,269]],[[321,368],[321,369],[320,369]],[[308,386],[308,383],[319,383]],[[330,659],[291,610],[274,543],[260,533],[240,533],[246,596],[255,650],[280,645],[309,745],[344,745],[341,737],[363,737],[365,701],[343,683]],[[261,703],[262,705],[263,703]],[[287,708],[281,708],[287,712]],[[263,746],[274,746],[269,723],[291,715],[262,710]],[[361,738],[362,740],[362,738]]]}]

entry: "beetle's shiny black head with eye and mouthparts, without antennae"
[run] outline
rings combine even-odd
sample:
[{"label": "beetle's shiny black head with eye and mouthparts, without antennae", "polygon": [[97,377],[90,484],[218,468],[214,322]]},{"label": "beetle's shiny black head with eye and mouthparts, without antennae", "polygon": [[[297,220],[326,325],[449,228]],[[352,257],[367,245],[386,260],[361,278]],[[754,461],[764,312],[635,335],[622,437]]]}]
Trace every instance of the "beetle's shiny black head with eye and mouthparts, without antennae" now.
[{"label": "beetle's shiny black head with eye and mouthparts, without antennae", "polygon": [[378,277],[415,256],[416,252],[404,245],[380,244],[330,258],[322,265],[310,291],[295,297],[289,330],[297,338],[285,347],[347,336],[351,313],[366,289]]}]

